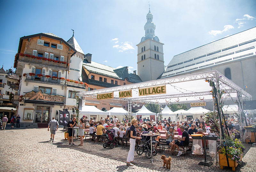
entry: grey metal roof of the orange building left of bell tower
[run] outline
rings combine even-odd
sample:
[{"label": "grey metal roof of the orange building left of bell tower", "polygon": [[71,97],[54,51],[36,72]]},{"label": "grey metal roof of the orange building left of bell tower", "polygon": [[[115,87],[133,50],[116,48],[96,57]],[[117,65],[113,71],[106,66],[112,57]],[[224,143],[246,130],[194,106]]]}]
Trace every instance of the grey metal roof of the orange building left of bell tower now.
[{"label": "grey metal roof of the orange building left of bell tower", "polygon": [[94,61],[91,63],[83,63],[83,66],[91,73],[100,74],[120,80],[127,78],[128,81],[132,83],[142,82],[138,75],[129,73],[126,67],[116,69],[114,67],[103,65]]}]

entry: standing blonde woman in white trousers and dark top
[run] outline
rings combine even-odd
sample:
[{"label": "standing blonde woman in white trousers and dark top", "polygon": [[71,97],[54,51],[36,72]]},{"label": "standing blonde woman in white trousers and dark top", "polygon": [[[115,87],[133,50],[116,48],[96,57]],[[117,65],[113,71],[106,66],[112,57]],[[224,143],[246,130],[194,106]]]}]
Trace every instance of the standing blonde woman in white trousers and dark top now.
[{"label": "standing blonde woman in white trousers and dark top", "polygon": [[130,127],[130,134],[131,134],[130,150],[129,150],[127,160],[126,160],[127,166],[133,166],[133,164],[137,164],[136,162],[133,161],[133,154],[134,154],[134,149],[135,149],[136,138],[141,139],[141,137],[136,137],[135,125],[138,125],[137,119],[133,118],[131,123],[132,123],[132,125]]}]

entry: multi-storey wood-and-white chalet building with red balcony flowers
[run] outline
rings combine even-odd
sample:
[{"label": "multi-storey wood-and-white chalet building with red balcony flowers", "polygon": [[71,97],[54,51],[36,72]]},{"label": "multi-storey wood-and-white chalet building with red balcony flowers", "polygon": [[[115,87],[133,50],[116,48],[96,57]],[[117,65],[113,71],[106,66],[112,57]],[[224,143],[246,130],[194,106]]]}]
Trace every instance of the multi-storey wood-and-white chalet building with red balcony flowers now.
[{"label": "multi-storey wood-and-white chalet building with red balcony flowers", "polygon": [[62,109],[68,108],[72,113],[76,105],[73,91],[86,90],[79,74],[75,76],[70,71],[79,65],[77,59],[83,59],[83,54],[52,33],[20,38],[14,67],[21,76],[17,112],[21,126],[48,123]]}]

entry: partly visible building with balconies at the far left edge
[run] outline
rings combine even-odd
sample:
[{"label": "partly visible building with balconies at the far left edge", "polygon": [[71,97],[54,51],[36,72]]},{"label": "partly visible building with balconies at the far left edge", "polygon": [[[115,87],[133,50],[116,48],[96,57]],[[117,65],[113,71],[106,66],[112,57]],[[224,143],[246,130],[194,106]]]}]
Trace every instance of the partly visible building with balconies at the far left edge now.
[{"label": "partly visible building with balconies at the far left edge", "polygon": [[[13,98],[18,96],[19,89],[19,76],[16,75],[12,69],[4,70],[0,69],[0,118],[4,115],[10,118],[16,113],[16,106],[13,102]],[[17,103],[17,102],[16,102]]]}]

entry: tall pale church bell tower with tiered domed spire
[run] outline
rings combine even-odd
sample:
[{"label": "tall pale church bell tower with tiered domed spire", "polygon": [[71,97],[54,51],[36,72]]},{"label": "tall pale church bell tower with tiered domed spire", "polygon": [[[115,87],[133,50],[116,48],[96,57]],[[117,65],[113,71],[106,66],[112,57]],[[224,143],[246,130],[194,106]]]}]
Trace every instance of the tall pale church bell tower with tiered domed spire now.
[{"label": "tall pale church bell tower with tiered domed spire", "polygon": [[145,36],[137,44],[138,75],[143,82],[156,80],[164,72],[164,44],[155,35],[156,25],[153,23],[153,15],[150,12],[150,8],[146,18]]}]

